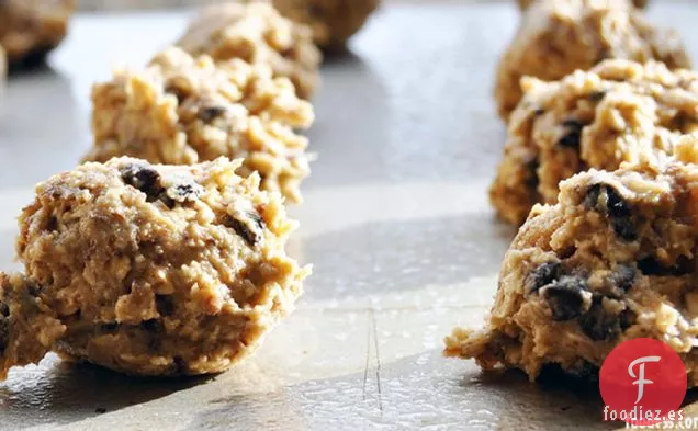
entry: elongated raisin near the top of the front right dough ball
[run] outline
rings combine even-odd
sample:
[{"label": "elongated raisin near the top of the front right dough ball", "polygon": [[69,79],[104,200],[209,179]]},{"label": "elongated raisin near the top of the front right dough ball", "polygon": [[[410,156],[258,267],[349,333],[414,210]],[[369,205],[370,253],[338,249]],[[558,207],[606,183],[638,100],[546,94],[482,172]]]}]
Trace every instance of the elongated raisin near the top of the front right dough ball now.
[{"label": "elongated raisin near the top of the front right dough ball", "polygon": [[[606,199],[601,200],[603,196]],[[584,204],[587,208],[606,215],[616,235],[622,239],[632,241],[638,238],[638,229],[632,223],[630,205],[611,185],[603,183],[592,185],[587,191]]]}]

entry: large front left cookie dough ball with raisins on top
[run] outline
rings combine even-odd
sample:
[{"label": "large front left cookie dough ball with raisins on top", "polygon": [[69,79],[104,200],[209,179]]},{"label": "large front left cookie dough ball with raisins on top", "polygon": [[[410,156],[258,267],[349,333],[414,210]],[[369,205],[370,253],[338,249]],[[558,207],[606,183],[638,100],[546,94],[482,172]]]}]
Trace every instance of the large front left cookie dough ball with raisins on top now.
[{"label": "large front left cookie dough ball with raisins on top", "polygon": [[53,350],[127,374],[195,375],[254,352],[309,271],[285,254],[295,224],[281,197],[238,167],[120,158],[40,184],[20,216],[31,282],[11,279],[0,307],[4,370]]}]

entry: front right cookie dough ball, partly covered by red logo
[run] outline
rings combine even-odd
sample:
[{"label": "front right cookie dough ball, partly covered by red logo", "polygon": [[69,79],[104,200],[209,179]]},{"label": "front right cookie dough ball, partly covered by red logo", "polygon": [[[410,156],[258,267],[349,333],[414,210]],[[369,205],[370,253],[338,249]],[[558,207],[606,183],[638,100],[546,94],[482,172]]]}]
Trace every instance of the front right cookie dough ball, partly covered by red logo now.
[{"label": "front right cookie dough ball, partly covered by red logo", "polygon": [[548,365],[597,377],[619,343],[666,342],[698,385],[698,141],[679,160],[590,170],[537,206],[507,252],[486,328],[457,329],[446,353],[485,370]]}]

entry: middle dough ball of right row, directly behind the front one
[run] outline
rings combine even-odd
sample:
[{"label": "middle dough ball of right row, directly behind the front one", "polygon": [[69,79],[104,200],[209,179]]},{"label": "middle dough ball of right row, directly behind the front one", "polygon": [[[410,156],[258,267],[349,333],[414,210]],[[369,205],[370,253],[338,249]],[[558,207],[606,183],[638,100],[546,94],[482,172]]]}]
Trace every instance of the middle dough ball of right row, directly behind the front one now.
[{"label": "middle dough ball of right row, directly behind the front one", "polygon": [[489,197],[520,225],[536,203],[555,203],[560,181],[588,168],[615,170],[639,150],[672,152],[698,132],[698,73],[658,63],[606,60],[561,81],[522,80]]}]

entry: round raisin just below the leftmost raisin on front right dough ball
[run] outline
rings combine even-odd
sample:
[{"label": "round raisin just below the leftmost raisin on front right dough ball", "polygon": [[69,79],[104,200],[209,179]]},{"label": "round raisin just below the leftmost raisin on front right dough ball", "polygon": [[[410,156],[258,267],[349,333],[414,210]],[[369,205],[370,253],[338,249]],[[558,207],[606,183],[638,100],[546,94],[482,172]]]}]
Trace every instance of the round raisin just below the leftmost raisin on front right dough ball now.
[{"label": "round raisin just below the leftmost raisin on front right dough ball", "polygon": [[572,320],[589,308],[592,294],[587,290],[586,281],[578,276],[563,276],[540,290],[545,299],[553,320]]}]

